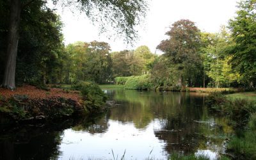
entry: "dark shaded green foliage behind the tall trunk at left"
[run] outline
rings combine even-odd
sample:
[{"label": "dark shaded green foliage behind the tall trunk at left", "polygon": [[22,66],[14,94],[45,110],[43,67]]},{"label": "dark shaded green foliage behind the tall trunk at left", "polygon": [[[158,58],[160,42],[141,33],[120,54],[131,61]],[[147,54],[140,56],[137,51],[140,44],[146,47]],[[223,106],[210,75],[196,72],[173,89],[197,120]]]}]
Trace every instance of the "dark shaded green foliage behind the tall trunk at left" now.
[{"label": "dark shaded green foliage behind the tall trunk at left", "polygon": [[[3,17],[0,18],[2,22],[0,41],[3,42],[1,43],[3,45],[0,48],[0,56],[3,59],[6,59],[7,19],[8,12],[10,12],[7,6],[8,1],[0,1],[0,10],[3,11]],[[60,66],[58,57],[60,57],[64,47],[60,17],[53,10],[44,8],[42,1],[31,3],[22,10],[20,16],[22,19],[19,27],[15,81],[19,84],[57,81],[54,78],[57,76],[54,74],[56,73],[56,66]],[[1,68],[4,68],[4,63],[6,63],[3,59]],[[0,79],[3,79],[3,73],[4,70],[0,70]]]}]

